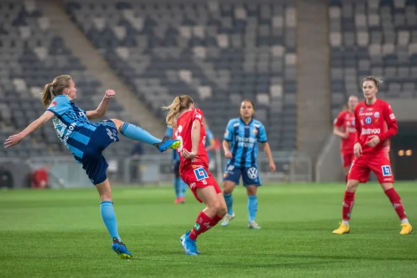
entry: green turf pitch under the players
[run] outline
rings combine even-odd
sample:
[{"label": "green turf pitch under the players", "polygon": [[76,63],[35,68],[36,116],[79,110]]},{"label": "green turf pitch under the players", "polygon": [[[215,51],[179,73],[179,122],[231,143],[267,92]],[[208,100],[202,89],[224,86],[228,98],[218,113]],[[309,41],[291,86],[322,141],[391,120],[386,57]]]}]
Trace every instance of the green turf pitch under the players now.
[{"label": "green turf pitch under the players", "polygon": [[[417,227],[417,183],[395,183]],[[120,236],[133,259],[120,259],[99,213],[95,188],[0,191],[0,277],[415,277],[417,235],[375,183],[359,186],[350,234],[341,221],[342,184],[259,188],[261,230],[247,229],[245,190],[234,192],[236,218],[202,234],[202,254],[179,243],[204,205],[187,191],[113,187]]]}]

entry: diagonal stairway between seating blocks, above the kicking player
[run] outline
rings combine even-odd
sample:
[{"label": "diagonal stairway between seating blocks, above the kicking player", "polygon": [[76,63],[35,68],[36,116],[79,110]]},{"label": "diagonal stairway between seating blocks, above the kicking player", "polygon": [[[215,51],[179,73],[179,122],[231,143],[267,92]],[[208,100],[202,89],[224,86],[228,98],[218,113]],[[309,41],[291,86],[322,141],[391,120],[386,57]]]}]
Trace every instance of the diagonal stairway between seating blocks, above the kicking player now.
[{"label": "diagonal stairway between seating blocks, above the kicking player", "polygon": [[[147,129],[155,136],[163,136],[165,124],[149,113],[147,107],[133,95],[131,88],[113,72],[106,60],[65,13],[63,1],[42,0],[38,4],[44,16],[49,17],[51,26],[57,33],[63,35],[65,44],[72,50],[74,56],[78,56],[83,61],[87,70],[101,81],[104,88],[115,90],[117,101],[124,107],[129,117],[140,122],[143,129]],[[99,104],[98,99],[97,104]]]}]

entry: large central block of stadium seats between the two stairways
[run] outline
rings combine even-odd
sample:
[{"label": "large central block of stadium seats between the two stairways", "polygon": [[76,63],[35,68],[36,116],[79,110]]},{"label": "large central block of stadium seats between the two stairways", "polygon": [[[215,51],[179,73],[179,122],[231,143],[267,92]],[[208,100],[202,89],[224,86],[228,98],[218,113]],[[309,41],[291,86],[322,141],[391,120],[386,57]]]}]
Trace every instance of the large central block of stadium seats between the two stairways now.
[{"label": "large central block of stadium seats between the two stairways", "polygon": [[254,3],[67,0],[67,13],[155,115],[192,96],[215,136],[243,99],[274,150],[295,148],[295,6]]}]

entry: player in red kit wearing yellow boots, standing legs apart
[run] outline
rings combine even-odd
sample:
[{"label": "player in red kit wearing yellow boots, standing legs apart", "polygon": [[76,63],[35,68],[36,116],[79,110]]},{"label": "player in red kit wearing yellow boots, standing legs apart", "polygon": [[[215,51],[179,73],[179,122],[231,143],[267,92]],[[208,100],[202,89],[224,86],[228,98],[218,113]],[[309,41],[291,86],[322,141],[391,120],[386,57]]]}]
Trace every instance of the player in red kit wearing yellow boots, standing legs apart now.
[{"label": "player in red kit wearing yellow boots, standing legs apart", "polygon": [[372,170],[398,217],[401,220],[400,234],[411,234],[413,228],[409,224],[400,196],[393,188],[393,172],[389,161],[390,138],[398,131],[397,120],[391,106],[376,94],[380,79],[368,76],[362,81],[365,101],[354,108],[357,136],[354,143],[354,161],[347,177],[345,197],[342,206],[342,222],[333,234],[347,234],[350,231],[349,220],[354,204],[354,193],[359,183],[366,183]]}]

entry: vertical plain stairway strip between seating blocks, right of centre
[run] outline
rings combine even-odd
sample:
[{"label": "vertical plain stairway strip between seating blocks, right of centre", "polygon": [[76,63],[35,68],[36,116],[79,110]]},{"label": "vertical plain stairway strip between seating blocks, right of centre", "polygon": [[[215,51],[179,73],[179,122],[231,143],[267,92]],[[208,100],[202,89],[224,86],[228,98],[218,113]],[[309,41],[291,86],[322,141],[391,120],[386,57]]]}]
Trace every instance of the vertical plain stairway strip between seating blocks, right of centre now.
[{"label": "vertical plain stairway strip between seating blocks, right of centre", "polygon": [[327,3],[297,1],[297,149],[316,161],[331,129]]}]

